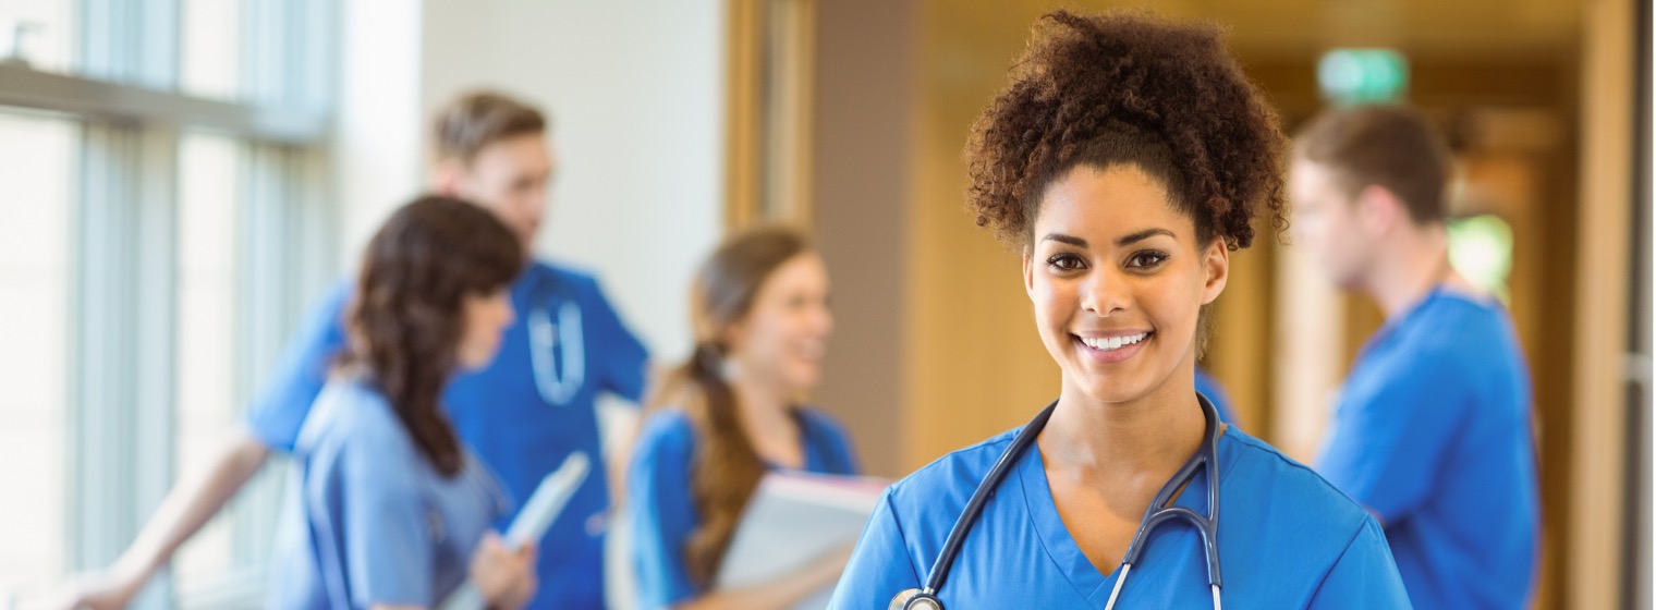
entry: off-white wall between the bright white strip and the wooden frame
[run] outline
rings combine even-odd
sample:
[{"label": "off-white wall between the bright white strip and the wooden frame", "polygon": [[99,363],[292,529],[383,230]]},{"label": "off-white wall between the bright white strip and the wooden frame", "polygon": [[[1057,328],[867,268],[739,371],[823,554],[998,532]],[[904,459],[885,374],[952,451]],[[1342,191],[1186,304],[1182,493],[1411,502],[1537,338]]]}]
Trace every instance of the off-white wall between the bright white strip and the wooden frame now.
[{"label": "off-white wall between the bright white strip and the wooden frame", "polygon": [[684,356],[691,272],[724,219],[724,2],[427,0],[422,40],[422,116],[477,86],[548,111],[537,250],[596,272],[657,358]]}]

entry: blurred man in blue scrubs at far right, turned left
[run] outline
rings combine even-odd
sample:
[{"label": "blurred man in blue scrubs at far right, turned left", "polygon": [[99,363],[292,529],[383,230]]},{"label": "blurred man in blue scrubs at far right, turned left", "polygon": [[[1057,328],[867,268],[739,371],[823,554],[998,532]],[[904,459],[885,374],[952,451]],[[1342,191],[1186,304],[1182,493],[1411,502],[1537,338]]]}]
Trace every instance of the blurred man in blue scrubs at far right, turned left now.
[{"label": "blurred man in blue scrubs at far right, turned left", "polygon": [[1530,380],[1505,307],[1449,265],[1449,176],[1404,106],[1328,111],[1295,139],[1295,244],[1386,313],[1317,469],[1381,520],[1416,608],[1519,608],[1540,537]]}]

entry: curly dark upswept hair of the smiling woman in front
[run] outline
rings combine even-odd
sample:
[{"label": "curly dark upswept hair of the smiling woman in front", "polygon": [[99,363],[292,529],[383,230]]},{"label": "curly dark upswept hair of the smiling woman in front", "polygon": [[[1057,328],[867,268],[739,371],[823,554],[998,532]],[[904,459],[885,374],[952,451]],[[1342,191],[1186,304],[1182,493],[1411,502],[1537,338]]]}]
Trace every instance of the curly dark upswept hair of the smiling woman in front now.
[{"label": "curly dark upswept hair of the smiling woman in front", "polygon": [[1128,12],[1042,17],[1010,83],[972,126],[967,207],[1028,245],[1048,184],[1086,164],[1158,177],[1206,244],[1254,242],[1250,220],[1287,229],[1277,113],[1209,23]]}]

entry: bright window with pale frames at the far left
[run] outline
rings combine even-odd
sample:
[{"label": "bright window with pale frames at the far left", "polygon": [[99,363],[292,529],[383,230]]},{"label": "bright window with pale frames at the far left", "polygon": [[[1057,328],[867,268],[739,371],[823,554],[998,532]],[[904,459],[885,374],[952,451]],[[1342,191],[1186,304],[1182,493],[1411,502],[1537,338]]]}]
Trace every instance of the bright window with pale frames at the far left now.
[{"label": "bright window with pale frames at the far left", "polygon": [[[0,608],[109,565],[331,277],[326,0],[0,2]],[[267,467],[136,607],[258,607]]]}]

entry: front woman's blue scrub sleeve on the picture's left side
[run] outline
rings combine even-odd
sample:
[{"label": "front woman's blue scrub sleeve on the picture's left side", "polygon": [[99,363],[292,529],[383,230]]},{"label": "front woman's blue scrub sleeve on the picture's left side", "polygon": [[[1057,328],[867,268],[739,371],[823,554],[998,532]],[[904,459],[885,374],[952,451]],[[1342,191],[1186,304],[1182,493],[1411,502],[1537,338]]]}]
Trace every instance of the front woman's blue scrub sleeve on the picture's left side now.
[{"label": "front woman's blue scrub sleeve on the picture's left side", "polygon": [[899,592],[921,585],[891,504],[893,489],[886,489],[868,517],[868,527],[828,602],[830,610],[884,608]]}]

